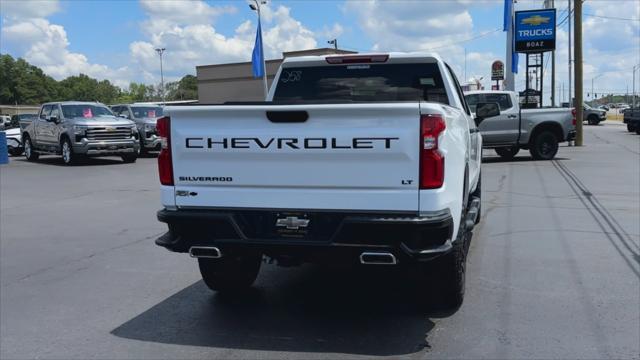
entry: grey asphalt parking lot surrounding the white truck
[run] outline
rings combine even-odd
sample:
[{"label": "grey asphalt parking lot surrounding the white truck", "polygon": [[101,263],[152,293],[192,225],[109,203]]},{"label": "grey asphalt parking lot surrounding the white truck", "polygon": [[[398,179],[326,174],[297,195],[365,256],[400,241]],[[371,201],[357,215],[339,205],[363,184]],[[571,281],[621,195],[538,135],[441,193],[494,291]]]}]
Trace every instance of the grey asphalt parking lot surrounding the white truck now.
[{"label": "grey asphalt parking lot surrounding the white truck", "polygon": [[585,127],[554,161],[485,151],[463,306],[416,311],[397,273],[266,265],[209,292],[153,244],[154,158],[0,167],[2,358],[638,358],[640,136]]}]

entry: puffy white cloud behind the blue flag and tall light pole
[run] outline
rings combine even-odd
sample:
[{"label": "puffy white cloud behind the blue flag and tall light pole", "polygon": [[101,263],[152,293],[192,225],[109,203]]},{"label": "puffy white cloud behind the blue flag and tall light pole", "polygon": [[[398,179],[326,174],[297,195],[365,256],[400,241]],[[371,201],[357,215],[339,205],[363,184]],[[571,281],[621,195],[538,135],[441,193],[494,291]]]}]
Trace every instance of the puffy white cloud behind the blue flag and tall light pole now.
[{"label": "puffy white cloud behind the blue flag and tall light pole", "polygon": [[[213,20],[220,14],[234,12],[229,7],[210,6],[202,1],[171,2],[160,9],[156,1],[143,1],[148,19],[142,22],[147,39],[129,46],[133,61],[148,73],[159,78],[158,55],[155,48],[164,47],[165,70],[183,75],[194,73],[197,65],[250,61],[256,22],[240,23],[233,35],[225,36],[214,27]],[[164,2],[162,2],[164,3]],[[194,8],[203,14],[193,20]],[[314,33],[296,20],[285,6],[264,6],[263,44],[265,57],[280,58],[283,51],[316,47]]]}]

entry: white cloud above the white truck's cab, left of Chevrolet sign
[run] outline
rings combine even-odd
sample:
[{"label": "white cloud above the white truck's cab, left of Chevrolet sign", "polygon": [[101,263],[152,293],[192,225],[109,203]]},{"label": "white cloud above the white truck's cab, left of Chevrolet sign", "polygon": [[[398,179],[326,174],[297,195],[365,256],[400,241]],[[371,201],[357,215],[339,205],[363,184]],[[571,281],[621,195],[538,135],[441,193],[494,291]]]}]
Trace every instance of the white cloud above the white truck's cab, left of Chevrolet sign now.
[{"label": "white cloud above the white truck's cab, left of Chevrolet sign", "polygon": [[460,82],[484,77],[488,83],[491,63],[504,55],[469,51],[465,66],[465,44],[478,35],[503,37],[492,29],[477,31],[474,28],[470,7],[478,5],[494,3],[349,0],[343,10],[356,17],[362,33],[373,41],[371,50],[435,52],[449,63]]}]

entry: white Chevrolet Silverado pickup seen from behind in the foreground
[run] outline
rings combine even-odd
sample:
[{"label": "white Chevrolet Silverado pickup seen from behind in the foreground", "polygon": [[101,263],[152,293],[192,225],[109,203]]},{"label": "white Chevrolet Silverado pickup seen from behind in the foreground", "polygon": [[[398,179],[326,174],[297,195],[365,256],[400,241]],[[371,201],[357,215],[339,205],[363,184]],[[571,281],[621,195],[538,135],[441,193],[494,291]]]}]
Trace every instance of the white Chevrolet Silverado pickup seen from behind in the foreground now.
[{"label": "white Chevrolet Silverado pickup seen from behind in the foreground", "polygon": [[287,58],[266,102],[165,108],[156,244],[198,258],[217,291],[250,286],[263,257],[413,265],[458,306],[480,212],[476,123],[498,104],[476,114],[434,55]]}]

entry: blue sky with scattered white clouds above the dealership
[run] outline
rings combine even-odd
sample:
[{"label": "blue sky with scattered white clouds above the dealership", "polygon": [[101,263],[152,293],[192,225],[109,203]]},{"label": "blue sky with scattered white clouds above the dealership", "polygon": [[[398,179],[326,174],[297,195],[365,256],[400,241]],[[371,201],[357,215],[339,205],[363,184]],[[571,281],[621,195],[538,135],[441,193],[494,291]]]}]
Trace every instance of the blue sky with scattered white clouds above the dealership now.
[{"label": "blue sky with scattered white clouds above the dealership", "polygon": [[[568,1],[555,1],[560,23]],[[330,47],[334,38],[359,52],[431,51],[461,82],[482,77],[490,87],[491,63],[505,58],[503,6],[503,0],[270,0],[262,11],[265,54]],[[519,0],[515,8],[542,6],[543,0]],[[631,92],[633,67],[640,65],[640,1],[586,0],[584,14],[585,99],[593,97],[592,79],[597,94]],[[246,0],[0,0],[0,17],[2,54],[58,80],[84,73],[123,88],[160,82],[157,47],[166,48],[166,81],[195,75],[197,65],[250,61],[257,28]],[[558,101],[568,99],[567,30],[565,22],[557,33]],[[523,90],[524,56],[519,65],[516,90]],[[550,74],[547,65],[545,98]]]}]

